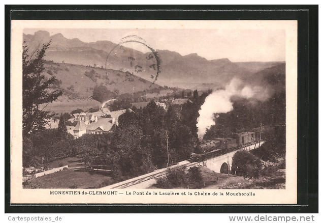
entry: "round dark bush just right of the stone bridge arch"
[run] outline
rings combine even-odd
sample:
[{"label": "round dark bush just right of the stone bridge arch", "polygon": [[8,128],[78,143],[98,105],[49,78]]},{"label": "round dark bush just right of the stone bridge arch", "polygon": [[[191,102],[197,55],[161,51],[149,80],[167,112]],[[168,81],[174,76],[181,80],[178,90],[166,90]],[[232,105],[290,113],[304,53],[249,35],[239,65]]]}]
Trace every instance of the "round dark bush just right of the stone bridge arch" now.
[{"label": "round dark bush just right of the stone bridge arch", "polygon": [[239,176],[257,178],[261,168],[261,160],[249,152],[239,151],[232,158],[232,171]]}]

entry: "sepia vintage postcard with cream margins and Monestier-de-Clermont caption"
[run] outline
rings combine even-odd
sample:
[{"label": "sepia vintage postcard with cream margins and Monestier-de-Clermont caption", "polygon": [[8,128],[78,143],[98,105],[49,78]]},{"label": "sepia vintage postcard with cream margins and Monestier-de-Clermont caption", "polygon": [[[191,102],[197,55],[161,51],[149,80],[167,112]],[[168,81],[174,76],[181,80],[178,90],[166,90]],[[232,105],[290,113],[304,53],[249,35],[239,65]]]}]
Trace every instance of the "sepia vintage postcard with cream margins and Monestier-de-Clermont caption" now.
[{"label": "sepia vintage postcard with cream margins and Monestier-de-Clermont caption", "polygon": [[12,204],[297,203],[297,21],[11,25]]}]

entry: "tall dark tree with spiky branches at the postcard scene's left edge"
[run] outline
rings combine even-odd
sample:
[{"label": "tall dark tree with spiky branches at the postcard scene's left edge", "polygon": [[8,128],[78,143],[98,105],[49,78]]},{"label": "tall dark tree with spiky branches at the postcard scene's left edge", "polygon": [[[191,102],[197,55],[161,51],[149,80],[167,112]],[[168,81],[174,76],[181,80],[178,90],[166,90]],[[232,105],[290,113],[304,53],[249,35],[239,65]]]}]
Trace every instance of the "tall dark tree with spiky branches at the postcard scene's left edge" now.
[{"label": "tall dark tree with spiky branches at the postcard scene's left edge", "polygon": [[[22,50],[22,128],[23,134],[29,134],[44,128],[46,119],[50,118],[49,111],[39,108],[41,104],[49,104],[62,95],[60,90],[52,90],[50,86],[56,78],[52,76],[45,80],[42,72],[44,67],[45,51],[50,42],[43,44],[41,49],[28,54],[28,45]],[[34,55],[36,54],[36,57]]]}]

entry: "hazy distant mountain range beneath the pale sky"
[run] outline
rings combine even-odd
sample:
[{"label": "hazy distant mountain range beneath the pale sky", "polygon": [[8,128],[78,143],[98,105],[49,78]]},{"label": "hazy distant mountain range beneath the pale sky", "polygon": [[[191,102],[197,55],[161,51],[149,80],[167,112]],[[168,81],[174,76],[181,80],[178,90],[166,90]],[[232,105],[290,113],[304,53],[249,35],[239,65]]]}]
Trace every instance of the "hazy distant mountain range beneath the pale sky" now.
[{"label": "hazy distant mountain range beneath the pale sky", "polygon": [[[77,38],[67,39],[62,34],[50,36],[47,31],[34,35],[23,35],[29,51],[50,42],[45,59],[55,63],[66,63],[131,73],[152,81],[156,76],[156,64],[150,53],[117,46],[108,40],[86,43]],[[116,47],[117,46],[117,47]],[[189,47],[189,46],[188,46]],[[113,50],[112,50],[113,49]],[[112,50],[112,51],[111,51]],[[161,60],[160,73],[156,84],[185,89],[222,88],[233,78],[250,79],[262,70],[284,66],[284,62],[240,62],[229,59],[207,60],[197,53],[182,56],[170,50],[155,50]]]}]

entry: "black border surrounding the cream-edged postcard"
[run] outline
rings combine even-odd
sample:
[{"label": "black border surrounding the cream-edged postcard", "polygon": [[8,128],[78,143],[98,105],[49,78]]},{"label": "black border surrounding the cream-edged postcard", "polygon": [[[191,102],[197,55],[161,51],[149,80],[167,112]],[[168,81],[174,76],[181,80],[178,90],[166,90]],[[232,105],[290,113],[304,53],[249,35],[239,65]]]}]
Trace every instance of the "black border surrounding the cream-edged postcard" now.
[{"label": "black border surrounding the cream-edged postcard", "polygon": [[11,205],[10,122],[7,121],[5,213],[318,213],[317,5],[6,5],[5,120],[10,120],[11,19],[298,20],[298,205]]}]

